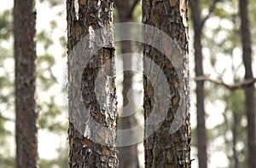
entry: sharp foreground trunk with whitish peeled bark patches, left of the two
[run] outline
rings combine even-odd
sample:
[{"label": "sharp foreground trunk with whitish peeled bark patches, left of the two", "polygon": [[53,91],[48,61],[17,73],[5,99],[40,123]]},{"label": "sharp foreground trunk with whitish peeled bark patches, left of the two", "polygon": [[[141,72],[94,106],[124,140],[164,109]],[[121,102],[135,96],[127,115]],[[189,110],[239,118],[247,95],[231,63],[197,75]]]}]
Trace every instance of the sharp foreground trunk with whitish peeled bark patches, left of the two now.
[{"label": "sharp foreground trunk with whitish peeled bark patches, left of the two", "polygon": [[78,6],[67,0],[69,167],[117,167],[113,1]]}]

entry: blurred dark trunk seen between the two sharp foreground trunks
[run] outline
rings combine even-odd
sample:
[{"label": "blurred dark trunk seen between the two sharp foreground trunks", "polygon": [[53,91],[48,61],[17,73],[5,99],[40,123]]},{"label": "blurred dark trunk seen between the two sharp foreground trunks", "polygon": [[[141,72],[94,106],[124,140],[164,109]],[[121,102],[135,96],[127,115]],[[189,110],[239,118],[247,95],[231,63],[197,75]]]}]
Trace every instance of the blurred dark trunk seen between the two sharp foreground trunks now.
[{"label": "blurred dark trunk seen between the two sharp foreground trunks", "polygon": [[[137,5],[138,0],[116,0],[115,5],[118,10],[119,22],[129,22],[132,21],[132,13],[133,9]],[[120,30],[120,32],[125,32],[126,36],[128,34],[131,35],[131,29],[127,27],[125,30]],[[119,36],[122,36],[120,34]],[[123,75],[123,114],[127,117],[122,117],[119,119],[118,127],[120,130],[130,129],[137,125],[137,120],[134,115],[130,115],[129,113],[135,112],[135,105],[134,105],[134,97],[132,92],[129,93],[130,99],[128,100],[128,92],[132,89],[132,77],[133,72],[131,70],[131,61],[132,61],[132,43],[131,41],[121,41],[121,54],[123,60],[123,68],[124,68],[124,75]],[[130,55],[124,55],[130,54]],[[128,71],[126,71],[128,70]],[[129,106],[127,106],[129,105]],[[135,132],[131,131],[132,134]],[[122,139],[120,137],[120,139]],[[138,154],[137,154],[137,144],[126,146],[126,147],[119,147],[119,167],[122,168],[137,168],[139,167],[138,162]]]}]

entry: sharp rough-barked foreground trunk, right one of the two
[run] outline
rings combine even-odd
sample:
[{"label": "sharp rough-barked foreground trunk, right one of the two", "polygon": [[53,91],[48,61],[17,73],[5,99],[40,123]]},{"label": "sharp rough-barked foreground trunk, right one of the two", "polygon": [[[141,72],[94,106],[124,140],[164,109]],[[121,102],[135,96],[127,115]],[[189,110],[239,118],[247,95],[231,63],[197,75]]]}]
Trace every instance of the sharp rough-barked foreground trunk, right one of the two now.
[{"label": "sharp rough-barked foreground trunk, right one of the two", "polygon": [[[160,70],[165,74],[167,85],[169,87],[171,95],[170,107],[167,109],[167,113],[163,114],[160,106],[160,101],[154,97],[154,89],[161,88],[163,84],[154,84],[152,81],[154,77],[159,78],[159,73],[151,75],[149,78],[143,79],[144,86],[144,111],[145,122],[152,113],[152,109],[157,108],[154,120],[156,122],[159,116],[165,115],[165,119],[160,124],[159,128],[154,133],[148,136],[148,131],[152,129],[152,126],[145,125],[144,136],[148,138],[144,141],[145,147],[145,167],[191,167],[190,163],[190,124],[189,124],[189,72],[188,72],[188,25],[187,25],[187,1],[185,0],[143,0],[143,23],[154,26],[177,42],[177,46],[182,50],[182,55],[172,53],[176,48],[175,46],[165,46],[164,53],[171,52],[173,55],[173,61],[168,58],[170,55],[163,55],[160,50],[145,44],[143,51],[143,68],[144,73],[148,74],[148,68],[152,68],[148,65],[147,59],[154,61]],[[158,38],[157,32],[148,34],[150,38]],[[155,37],[154,37],[155,36]],[[146,40],[150,41],[150,38]],[[165,38],[165,37],[163,37]],[[159,41],[162,38],[158,39]],[[147,43],[147,41],[145,41]],[[159,44],[161,45],[161,44]],[[171,51],[172,50],[172,51]],[[176,64],[174,60],[181,61],[181,65]],[[178,62],[178,61],[177,61]],[[174,63],[174,64],[172,64]],[[149,70],[150,71],[150,70]],[[154,72],[152,72],[154,73]],[[181,80],[178,79],[177,73],[181,74]],[[152,77],[152,78],[151,78]],[[150,84],[151,83],[151,84]],[[182,88],[184,94],[181,97],[179,87]],[[165,89],[163,89],[165,90]],[[183,100],[182,103],[179,101]],[[183,119],[181,114],[177,113],[177,109],[180,108],[183,113]],[[178,117],[177,117],[178,116]],[[177,131],[171,131],[172,124],[182,120],[182,125],[178,127]],[[173,133],[174,132],[174,133]]]}]

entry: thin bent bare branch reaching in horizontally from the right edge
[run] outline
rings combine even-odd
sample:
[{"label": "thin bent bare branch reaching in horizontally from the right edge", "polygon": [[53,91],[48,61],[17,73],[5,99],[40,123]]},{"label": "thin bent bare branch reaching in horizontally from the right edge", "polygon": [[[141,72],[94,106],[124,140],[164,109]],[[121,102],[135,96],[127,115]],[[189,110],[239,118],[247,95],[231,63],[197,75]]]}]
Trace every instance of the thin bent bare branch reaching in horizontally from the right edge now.
[{"label": "thin bent bare branch reaching in horizontally from the right edge", "polygon": [[225,88],[227,88],[228,90],[237,90],[237,89],[242,89],[247,87],[248,85],[254,84],[256,82],[256,78],[248,78],[244,81],[241,81],[239,83],[236,84],[225,84],[223,81],[221,80],[217,80],[217,79],[212,79],[209,78],[207,76],[198,76],[195,77],[195,81],[209,81],[212,82],[214,84],[219,84],[219,85],[223,85]]}]

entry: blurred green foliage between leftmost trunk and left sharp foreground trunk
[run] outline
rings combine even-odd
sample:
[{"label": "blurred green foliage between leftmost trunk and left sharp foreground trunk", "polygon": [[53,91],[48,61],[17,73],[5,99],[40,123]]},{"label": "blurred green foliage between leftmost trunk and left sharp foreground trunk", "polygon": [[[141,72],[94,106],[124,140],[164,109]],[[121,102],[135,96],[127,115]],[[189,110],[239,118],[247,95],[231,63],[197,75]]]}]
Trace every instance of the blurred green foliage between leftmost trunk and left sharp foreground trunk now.
[{"label": "blurred green foliage between leftmost trunk and left sharp foreground trunk", "polygon": [[[51,9],[56,9],[56,6],[64,3],[63,0],[41,0],[41,2],[48,3],[49,8]],[[63,19],[63,12],[64,10],[59,12],[59,14],[61,14],[61,19]],[[54,32],[59,26],[57,17],[54,17],[49,21],[49,28],[45,28],[41,32],[38,32],[38,46],[43,46],[44,52],[42,54],[40,53],[41,55],[38,55],[37,95],[39,113],[38,123],[40,129],[48,130],[49,132],[55,133],[55,135],[61,136],[67,132],[67,116],[66,113],[64,113],[64,107],[57,101],[57,96],[60,98],[60,95],[63,93],[63,90],[60,88],[61,84],[58,83],[59,78],[56,76],[59,75],[60,72],[54,72],[55,65],[58,63],[58,60],[56,59],[59,57],[55,56],[55,50],[50,50],[56,43],[56,40],[52,37],[54,37]],[[63,48],[62,55],[66,55],[67,38],[66,35],[64,35],[64,31],[63,36],[59,38],[59,42]],[[67,147],[60,146],[57,148],[57,153],[58,156],[53,159],[41,158],[40,167],[67,167]]]}]

